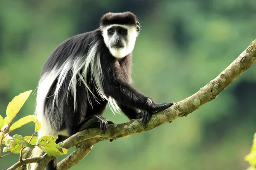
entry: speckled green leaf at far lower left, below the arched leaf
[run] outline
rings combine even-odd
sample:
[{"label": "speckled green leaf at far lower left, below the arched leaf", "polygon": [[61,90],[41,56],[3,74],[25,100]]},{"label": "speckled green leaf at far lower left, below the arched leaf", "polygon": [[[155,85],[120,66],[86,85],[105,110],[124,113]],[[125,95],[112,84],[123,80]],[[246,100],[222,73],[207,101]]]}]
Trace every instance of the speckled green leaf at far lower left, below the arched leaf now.
[{"label": "speckled green leaf at far lower left, below the arched leaf", "polygon": [[20,153],[23,140],[24,140],[24,137],[21,135],[12,136],[12,138],[6,140],[5,142],[6,147],[4,147],[3,152],[10,151],[12,153]]}]

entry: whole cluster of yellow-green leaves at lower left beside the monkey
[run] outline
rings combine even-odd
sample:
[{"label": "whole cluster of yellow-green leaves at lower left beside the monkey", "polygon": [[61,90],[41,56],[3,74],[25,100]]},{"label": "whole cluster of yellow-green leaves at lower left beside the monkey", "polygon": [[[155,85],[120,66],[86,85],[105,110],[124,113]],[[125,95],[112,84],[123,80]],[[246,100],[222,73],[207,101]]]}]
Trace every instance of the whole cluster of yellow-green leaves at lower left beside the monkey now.
[{"label": "whole cluster of yellow-green leaves at lower left beside the monkey", "polygon": [[[5,147],[3,147],[3,153],[7,153],[3,156],[0,155],[0,158],[3,158],[11,153],[17,153],[20,154],[20,161],[22,161],[22,153],[24,153],[27,148],[34,149],[35,146],[39,147],[41,150],[51,156],[61,156],[64,153],[67,153],[67,149],[59,147],[59,144],[56,144],[56,139],[58,139],[58,136],[48,135],[43,136],[40,139],[35,136],[36,132],[41,129],[41,122],[35,115],[25,116],[11,125],[12,120],[20,111],[20,108],[26,102],[31,92],[32,90],[15,96],[15,98],[12,99],[7,106],[6,116],[3,118],[3,116],[0,115],[0,149],[2,149],[2,144],[5,144]],[[18,134],[9,136],[10,132],[23,125],[26,125],[29,122],[35,123],[35,133],[33,133],[32,136],[21,136]]]}]

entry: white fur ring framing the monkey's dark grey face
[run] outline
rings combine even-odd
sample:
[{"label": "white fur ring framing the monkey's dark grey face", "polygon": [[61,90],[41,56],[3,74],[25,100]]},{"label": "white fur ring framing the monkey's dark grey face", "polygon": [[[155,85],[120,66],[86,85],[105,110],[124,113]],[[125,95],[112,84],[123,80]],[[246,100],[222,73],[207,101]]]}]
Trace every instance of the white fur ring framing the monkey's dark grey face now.
[{"label": "white fur ring framing the monkey's dark grey face", "polygon": [[[128,30],[128,34],[127,34],[128,42],[126,42],[125,47],[122,49],[111,48],[110,39],[108,37],[108,29],[111,28],[112,26],[121,26]],[[122,57],[125,57],[126,55],[130,54],[133,51],[136,38],[138,37],[138,32],[137,32],[135,26],[113,24],[110,26],[103,27],[102,32],[103,32],[102,35],[104,38],[104,42],[114,57],[122,58]]]}]

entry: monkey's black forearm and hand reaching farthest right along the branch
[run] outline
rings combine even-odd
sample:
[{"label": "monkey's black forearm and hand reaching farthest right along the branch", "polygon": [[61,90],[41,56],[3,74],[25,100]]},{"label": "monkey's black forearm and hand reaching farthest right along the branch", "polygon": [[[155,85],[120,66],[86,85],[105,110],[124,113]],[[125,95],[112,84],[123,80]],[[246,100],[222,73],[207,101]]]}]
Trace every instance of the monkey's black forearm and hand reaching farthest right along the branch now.
[{"label": "monkey's black forearm and hand reaching farthest right along the branch", "polygon": [[162,111],[174,104],[173,102],[156,104],[127,83],[113,83],[105,89],[106,93],[117,102],[129,108],[138,108],[151,113]]}]

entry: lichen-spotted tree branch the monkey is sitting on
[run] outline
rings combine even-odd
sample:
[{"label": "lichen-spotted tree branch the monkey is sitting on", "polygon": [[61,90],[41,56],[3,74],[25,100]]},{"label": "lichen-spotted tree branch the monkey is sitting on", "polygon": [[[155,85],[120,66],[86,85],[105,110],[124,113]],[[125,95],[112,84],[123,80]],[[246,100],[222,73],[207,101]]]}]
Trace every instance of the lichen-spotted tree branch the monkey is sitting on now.
[{"label": "lichen-spotted tree branch the monkey is sitting on", "polygon": [[[222,71],[221,74],[207,83],[207,85],[205,85],[203,88],[200,88],[197,93],[180,102],[177,102],[175,105],[172,105],[170,108],[164,111],[154,114],[145,126],[141,126],[141,120],[136,119],[131,120],[131,122],[119,125],[108,125],[108,130],[105,134],[101,134],[99,128],[90,128],[70,136],[68,139],[60,143],[60,147],[70,148],[84,141],[80,144],[82,149],[75,150],[70,154],[70,156],[67,156],[65,161],[59,162],[58,169],[65,169],[66,167],[70,167],[78,163],[81,159],[84,158],[84,156],[89,153],[89,148],[91,148],[93,144],[99,141],[117,139],[136,133],[142,133],[192,113],[201,105],[204,105],[204,103],[215,99],[218,94],[224,91],[224,89],[227,88],[231,82],[233,82],[237,77],[244,73],[244,71],[250,68],[250,66],[255,62],[256,40],[251,42],[249,47],[244,52],[242,52],[239,57],[233,61],[224,71]],[[39,162],[36,161],[38,162],[38,170],[45,167],[51,159],[51,156],[45,156],[43,160],[40,160]]]}]

